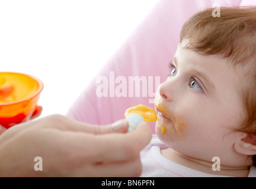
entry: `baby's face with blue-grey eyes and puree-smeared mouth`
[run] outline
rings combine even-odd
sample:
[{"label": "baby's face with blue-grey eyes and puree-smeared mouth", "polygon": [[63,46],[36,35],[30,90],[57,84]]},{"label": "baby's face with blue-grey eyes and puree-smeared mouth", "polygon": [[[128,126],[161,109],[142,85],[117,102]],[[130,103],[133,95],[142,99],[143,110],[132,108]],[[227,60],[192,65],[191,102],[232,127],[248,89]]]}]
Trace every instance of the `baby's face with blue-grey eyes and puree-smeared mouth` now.
[{"label": "baby's face with blue-grey eyes and puree-smeared mouth", "polygon": [[156,134],[183,155],[206,161],[232,158],[232,129],[246,117],[242,69],[185,49],[184,44],[178,45],[170,76],[156,93]]}]

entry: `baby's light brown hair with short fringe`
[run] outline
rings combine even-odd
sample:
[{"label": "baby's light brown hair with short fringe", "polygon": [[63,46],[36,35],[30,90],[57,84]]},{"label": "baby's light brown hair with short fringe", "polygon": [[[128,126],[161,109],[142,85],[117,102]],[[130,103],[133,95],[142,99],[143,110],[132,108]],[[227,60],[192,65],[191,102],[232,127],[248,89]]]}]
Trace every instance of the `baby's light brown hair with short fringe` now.
[{"label": "baby's light brown hair with short fringe", "polygon": [[[241,95],[248,117],[236,131],[256,139],[256,6],[220,7],[220,17],[213,17],[213,11],[208,8],[188,19],[181,30],[180,43],[188,39],[185,48],[228,58],[233,66],[249,64],[248,86]],[[253,159],[255,165],[256,156]]]}]

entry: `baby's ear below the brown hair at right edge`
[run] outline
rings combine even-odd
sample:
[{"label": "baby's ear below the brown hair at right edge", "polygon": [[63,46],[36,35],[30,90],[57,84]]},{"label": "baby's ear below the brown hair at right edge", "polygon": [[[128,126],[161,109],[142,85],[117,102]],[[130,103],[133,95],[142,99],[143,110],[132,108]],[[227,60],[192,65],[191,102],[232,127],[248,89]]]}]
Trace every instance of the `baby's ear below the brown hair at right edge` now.
[{"label": "baby's ear below the brown hair at right edge", "polygon": [[256,154],[256,136],[239,132],[236,135],[234,149],[239,154],[255,155]]}]

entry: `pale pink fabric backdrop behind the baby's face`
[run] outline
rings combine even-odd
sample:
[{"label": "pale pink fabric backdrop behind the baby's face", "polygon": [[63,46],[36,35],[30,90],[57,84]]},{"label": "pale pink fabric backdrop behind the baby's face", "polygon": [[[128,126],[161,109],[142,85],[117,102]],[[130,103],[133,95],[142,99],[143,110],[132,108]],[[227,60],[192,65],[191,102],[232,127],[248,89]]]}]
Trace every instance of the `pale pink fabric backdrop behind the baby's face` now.
[{"label": "pale pink fabric backdrop behind the baby's face", "polygon": [[[149,99],[153,97],[149,95],[143,97],[142,92],[140,97],[135,97],[135,94],[133,97],[118,97],[116,94],[110,97],[110,91],[108,91],[108,97],[99,97],[96,92],[100,84],[96,83],[96,80],[100,76],[107,78],[108,89],[113,88],[110,86],[110,83],[113,83],[110,73],[111,78],[123,76],[122,78],[127,82],[129,76],[145,76],[148,82],[151,76],[153,81],[160,78],[160,82],[164,82],[169,74],[168,63],[172,60],[178,45],[181,27],[191,15],[200,9],[212,7],[216,3],[221,6],[255,4],[252,1],[254,0],[160,0],[148,17],[105,64],[93,80],[94,82],[76,99],[68,110],[67,116],[81,122],[106,125],[123,119],[124,111],[130,106],[144,104],[154,107],[149,103]],[[119,84],[116,83],[114,87]],[[156,84],[152,84],[155,92]],[[127,93],[129,90],[127,85]],[[151,128],[154,133],[154,123],[151,123]]]}]

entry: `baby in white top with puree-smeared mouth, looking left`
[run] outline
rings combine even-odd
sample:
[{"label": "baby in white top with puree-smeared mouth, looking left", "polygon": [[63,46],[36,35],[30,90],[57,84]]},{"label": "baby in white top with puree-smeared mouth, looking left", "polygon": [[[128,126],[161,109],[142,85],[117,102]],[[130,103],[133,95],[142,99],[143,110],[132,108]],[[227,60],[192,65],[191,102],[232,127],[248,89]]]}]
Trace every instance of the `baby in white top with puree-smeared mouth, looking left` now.
[{"label": "baby in white top with puree-smeared mouth, looking left", "polygon": [[141,177],[256,177],[256,7],[183,25]]}]

